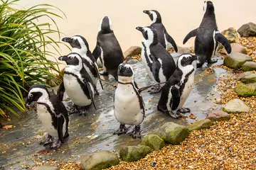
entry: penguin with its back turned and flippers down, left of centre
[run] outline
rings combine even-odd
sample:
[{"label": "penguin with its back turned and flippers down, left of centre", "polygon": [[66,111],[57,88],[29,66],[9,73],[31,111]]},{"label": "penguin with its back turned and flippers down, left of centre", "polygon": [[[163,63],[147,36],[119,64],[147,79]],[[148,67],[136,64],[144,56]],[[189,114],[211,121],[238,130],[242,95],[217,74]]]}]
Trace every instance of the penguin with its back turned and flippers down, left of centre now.
[{"label": "penguin with its back turned and flippers down, left of centre", "polygon": [[114,36],[112,21],[108,16],[103,17],[100,21],[97,45],[92,55],[95,56],[95,60],[100,57],[103,67],[103,72],[100,74],[111,74],[117,80],[117,69],[119,64],[124,62],[124,55],[117,38]]}]

